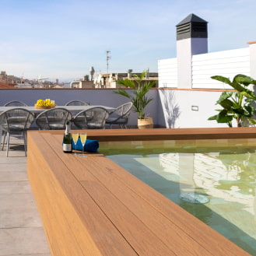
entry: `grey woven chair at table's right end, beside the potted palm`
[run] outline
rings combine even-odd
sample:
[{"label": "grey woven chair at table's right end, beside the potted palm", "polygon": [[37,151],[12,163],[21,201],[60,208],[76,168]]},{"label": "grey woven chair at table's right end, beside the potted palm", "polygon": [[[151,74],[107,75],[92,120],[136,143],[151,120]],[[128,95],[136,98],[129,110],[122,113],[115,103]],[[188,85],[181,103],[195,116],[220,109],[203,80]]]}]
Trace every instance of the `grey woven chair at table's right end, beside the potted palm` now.
[{"label": "grey woven chair at table's right end, beside the potted palm", "polygon": [[127,128],[126,124],[128,124],[131,110],[132,102],[124,103],[110,113],[110,116],[106,120],[106,124],[109,124],[110,128],[112,128],[113,124],[118,124],[120,128]]}]

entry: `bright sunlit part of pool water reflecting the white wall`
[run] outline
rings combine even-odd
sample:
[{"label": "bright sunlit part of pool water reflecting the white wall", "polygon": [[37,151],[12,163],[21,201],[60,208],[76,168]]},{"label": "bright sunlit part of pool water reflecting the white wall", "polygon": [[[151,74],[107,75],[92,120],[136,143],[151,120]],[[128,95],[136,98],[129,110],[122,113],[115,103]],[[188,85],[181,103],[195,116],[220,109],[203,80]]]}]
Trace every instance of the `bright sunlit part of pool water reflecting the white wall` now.
[{"label": "bright sunlit part of pool water reflecting the white wall", "polygon": [[[160,154],[163,169],[158,174],[163,177],[177,175],[181,193],[195,191],[209,197],[207,208],[177,202],[188,212],[192,209],[193,215],[204,218],[204,222],[211,226],[216,225],[215,219],[207,218],[211,216],[208,209],[212,209],[256,238],[255,163],[255,153],[163,153]],[[240,218],[245,219],[240,221]]]}]

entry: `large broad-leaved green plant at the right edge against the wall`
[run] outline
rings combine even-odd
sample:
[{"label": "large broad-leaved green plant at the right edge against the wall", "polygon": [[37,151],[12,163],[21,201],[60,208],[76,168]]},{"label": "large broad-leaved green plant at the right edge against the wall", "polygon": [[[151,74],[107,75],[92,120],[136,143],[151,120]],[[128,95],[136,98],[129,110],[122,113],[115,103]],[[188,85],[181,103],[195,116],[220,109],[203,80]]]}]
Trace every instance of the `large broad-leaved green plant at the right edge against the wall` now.
[{"label": "large broad-leaved green plant at the right edge against the wall", "polygon": [[236,91],[223,92],[221,94],[216,104],[219,104],[222,109],[217,110],[219,114],[209,117],[208,120],[226,123],[229,127],[232,127],[233,119],[237,121],[237,127],[256,124],[256,120],[254,119],[256,110],[252,104],[256,100],[256,96],[251,89],[247,88],[250,84],[256,85],[256,80],[251,79],[250,76],[241,74],[236,75],[232,82],[230,79],[221,75],[215,75],[211,78],[225,82],[232,86],[233,89],[236,89]]}]

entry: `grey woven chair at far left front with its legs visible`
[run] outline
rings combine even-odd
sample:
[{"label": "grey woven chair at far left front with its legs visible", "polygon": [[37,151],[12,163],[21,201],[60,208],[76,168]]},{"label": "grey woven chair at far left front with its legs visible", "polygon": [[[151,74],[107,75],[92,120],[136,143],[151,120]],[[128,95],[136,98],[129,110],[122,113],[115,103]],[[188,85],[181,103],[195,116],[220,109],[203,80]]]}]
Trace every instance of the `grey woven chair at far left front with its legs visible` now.
[{"label": "grey woven chair at far left front with its legs visible", "polygon": [[5,138],[7,135],[6,156],[9,155],[9,139],[10,135],[21,133],[24,140],[24,149],[26,156],[26,131],[30,128],[34,121],[34,115],[29,110],[22,108],[14,108],[6,110],[0,114],[0,126],[4,132],[4,139],[2,142],[2,150],[5,146]]}]

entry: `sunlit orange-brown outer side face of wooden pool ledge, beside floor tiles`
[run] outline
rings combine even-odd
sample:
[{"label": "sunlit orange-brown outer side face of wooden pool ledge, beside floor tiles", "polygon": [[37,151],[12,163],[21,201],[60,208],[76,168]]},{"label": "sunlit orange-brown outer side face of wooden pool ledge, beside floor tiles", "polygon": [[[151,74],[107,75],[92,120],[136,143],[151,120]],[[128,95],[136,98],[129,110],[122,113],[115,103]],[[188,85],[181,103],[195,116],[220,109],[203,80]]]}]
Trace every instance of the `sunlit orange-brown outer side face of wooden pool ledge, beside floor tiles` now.
[{"label": "sunlit orange-brown outer side face of wooden pool ledge, beside floor tiles", "polygon": [[[37,137],[40,145],[44,146],[44,141]],[[30,142],[30,145],[32,143]],[[79,230],[82,223],[76,217],[76,212],[68,205],[65,194],[61,192],[55,177],[48,171],[47,163],[37,148],[30,147],[30,160],[28,160],[28,174],[32,184],[33,193],[37,198],[38,209],[43,219],[44,229],[46,230],[48,243],[53,255],[103,255],[100,254],[95,244],[92,243],[86,230]],[[56,159],[58,163],[58,158]],[[30,165],[32,168],[30,168]],[[42,168],[43,167],[43,168]],[[64,198],[62,198],[64,197]],[[49,207],[51,205],[51,207]],[[66,225],[70,223],[72,216],[72,227]],[[68,219],[67,219],[68,218]],[[75,233],[74,233],[75,232]],[[77,233],[81,234],[83,241],[76,240]],[[81,249],[81,244],[89,244],[89,247]],[[82,252],[83,251],[83,252]]]}]

